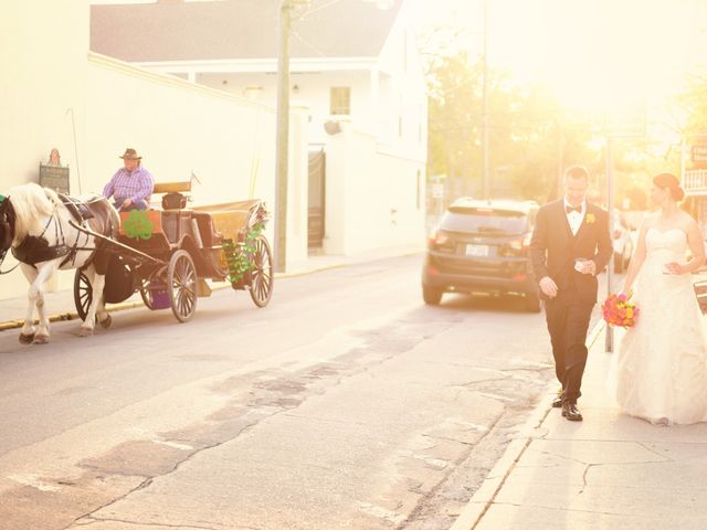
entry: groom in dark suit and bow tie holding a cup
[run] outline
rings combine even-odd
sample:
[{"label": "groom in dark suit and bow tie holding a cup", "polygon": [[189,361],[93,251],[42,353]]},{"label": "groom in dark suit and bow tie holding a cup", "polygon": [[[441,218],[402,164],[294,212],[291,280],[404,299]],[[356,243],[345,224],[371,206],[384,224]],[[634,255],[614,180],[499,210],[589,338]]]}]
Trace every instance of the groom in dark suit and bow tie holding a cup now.
[{"label": "groom in dark suit and bow tie holding a cup", "polygon": [[538,211],[530,241],[532,272],[541,298],[562,393],[552,406],[581,422],[577,409],[587,364],[587,330],[597,304],[597,274],[613,254],[609,214],[587,202],[589,172],[572,166],[564,172],[564,199]]}]

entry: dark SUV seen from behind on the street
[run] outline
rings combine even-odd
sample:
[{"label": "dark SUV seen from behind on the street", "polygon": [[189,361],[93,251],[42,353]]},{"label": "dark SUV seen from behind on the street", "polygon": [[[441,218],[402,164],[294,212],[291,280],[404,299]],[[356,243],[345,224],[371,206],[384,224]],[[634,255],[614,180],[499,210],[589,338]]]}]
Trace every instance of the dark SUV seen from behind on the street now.
[{"label": "dark SUV seen from behind on the street", "polygon": [[430,239],[424,301],[440,304],[444,293],[514,293],[525,296],[527,310],[539,311],[528,254],[537,212],[532,201],[455,201]]}]

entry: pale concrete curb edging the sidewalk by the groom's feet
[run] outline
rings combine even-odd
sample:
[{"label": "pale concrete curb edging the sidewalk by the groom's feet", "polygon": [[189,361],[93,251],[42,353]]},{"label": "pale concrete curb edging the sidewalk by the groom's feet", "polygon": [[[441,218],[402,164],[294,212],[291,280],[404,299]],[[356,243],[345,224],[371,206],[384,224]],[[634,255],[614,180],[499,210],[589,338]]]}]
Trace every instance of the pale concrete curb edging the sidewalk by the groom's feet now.
[{"label": "pale concrete curb edging the sidewalk by the groom's feet", "polygon": [[[604,329],[604,321],[597,322],[588,337],[588,348],[592,349],[601,332]],[[552,410],[552,400],[556,396],[557,381],[548,383],[545,396],[530,412],[530,416],[523,425],[520,435],[514,438],[504,452],[500,459],[488,473],[479,488],[469,499],[468,504],[458,515],[450,530],[474,530],[482,521],[496,496],[506,484],[506,479],[516,467],[516,464],[526,452],[530,443],[536,438],[535,432]]]}]

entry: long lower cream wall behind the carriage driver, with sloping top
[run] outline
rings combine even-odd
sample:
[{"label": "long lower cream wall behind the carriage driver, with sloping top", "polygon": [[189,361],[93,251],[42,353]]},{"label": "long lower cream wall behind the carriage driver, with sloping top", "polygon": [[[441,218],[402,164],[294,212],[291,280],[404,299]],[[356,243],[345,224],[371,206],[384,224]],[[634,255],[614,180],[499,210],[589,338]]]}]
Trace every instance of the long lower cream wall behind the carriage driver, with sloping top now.
[{"label": "long lower cream wall behind the carriage driver, with sloping top", "polygon": [[[189,180],[193,172],[201,181],[192,188],[194,205],[260,198],[274,209],[273,107],[98,54],[88,66],[86,129],[101,134],[86,137],[84,190],[101,192],[122,166],[117,157],[135,147],[156,181]],[[307,257],[306,114],[293,108],[291,118],[288,263]],[[271,242],[273,229],[274,219]]]}]

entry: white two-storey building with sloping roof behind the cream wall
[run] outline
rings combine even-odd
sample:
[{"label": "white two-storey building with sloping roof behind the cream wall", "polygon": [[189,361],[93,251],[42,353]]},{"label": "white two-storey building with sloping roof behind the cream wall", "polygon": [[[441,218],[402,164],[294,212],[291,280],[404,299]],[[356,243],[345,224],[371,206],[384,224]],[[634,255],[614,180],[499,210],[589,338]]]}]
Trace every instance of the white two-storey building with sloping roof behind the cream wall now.
[{"label": "white two-storey building with sloping roof behind the cream wall", "polygon": [[[279,6],[94,6],[91,47],[274,106]],[[293,13],[291,102],[308,109],[310,151],[326,153],[325,178],[312,156],[309,243],[321,245],[321,209],[328,253],[423,241],[428,96],[407,11],[403,0],[314,0]]]}]

